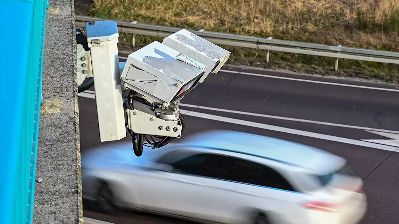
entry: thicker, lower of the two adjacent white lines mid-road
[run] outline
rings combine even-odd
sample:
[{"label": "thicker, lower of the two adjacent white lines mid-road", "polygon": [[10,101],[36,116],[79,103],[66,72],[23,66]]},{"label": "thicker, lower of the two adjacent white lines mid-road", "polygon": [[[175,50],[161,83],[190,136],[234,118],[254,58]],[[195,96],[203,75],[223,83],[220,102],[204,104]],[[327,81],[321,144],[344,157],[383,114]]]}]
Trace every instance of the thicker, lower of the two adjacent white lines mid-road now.
[{"label": "thicker, lower of the two adjacent white lines mid-road", "polygon": [[[81,92],[81,93],[79,93],[79,96],[95,99],[95,95],[92,93]],[[307,132],[307,131],[302,131],[302,130],[297,130],[297,129],[292,129],[292,128],[284,128],[284,127],[274,126],[274,125],[269,125],[269,124],[262,124],[262,123],[251,122],[251,121],[246,121],[246,120],[239,120],[239,119],[235,119],[235,118],[227,118],[227,117],[223,117],[223,116],[217,116],[217,115],[213,115],[213,114],[205,114],[205,113],[200,113],[200,112],[195,112],[195,111],[190,111],[190,110],[180,110],[180,112],[182,114],[185,114],[188,116],[194,116],[194,117],[198,117],[198,118],[205,118],[205,119],[209,119],[209,120],[216,120],[216,121],[227,122],[227,123],[231,123],[231,124],[239,124],[239,125],[243,125],[243,126],[261,128],[261,129],[265,129],[265,130],[283,132],[283,133],[288,133],[288,134],[295,134],[295,135],[306,136],[306,137],[310,137],[310,138],[318,138],[318,139],[322,139],[322,140],[336,141],[336,142],[347,143],[347,144],[351,144],[351,145],[359,145],[359,146],[370,147],[370,148],[375,148],[375,149],[382,149],[382,150],[386,150],[386,151],[396,151],[398,149],[397,147],[383,145],[383,144],[379,144],[379,143],[372,143],[369,141],[353,140],[353,139],[349,139],[349,138],[342,138],[342,137],[330,136],[330,135],[319,134],[319,133],[314,133],[314,132]]]}]

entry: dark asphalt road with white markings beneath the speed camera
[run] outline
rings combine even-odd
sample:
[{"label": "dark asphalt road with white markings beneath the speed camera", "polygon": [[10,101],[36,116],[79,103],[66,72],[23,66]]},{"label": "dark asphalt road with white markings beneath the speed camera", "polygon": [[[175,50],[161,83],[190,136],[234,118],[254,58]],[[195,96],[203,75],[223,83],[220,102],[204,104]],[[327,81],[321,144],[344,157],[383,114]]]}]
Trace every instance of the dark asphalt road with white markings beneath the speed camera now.
[{"label": "dark asphalt road with white markings beneath the speed camera", "polygon": [[[210,75],[182,100],[188,104],[181,107],[186,114],[186,135],[209,129],[236,130],[304,143],[340,155],[365,181],[368,211],[361,224],[397,223],[397,86],[223,69],[233,72]],[[93,96],[88,92],[79,97],[82,152],[110,144],[99,140],[96,104],[93,98],[88,98]],[[123,141],[131,141],[129,137]],[[106,216],[91,211],[87,204],[83,208],[85,217],[116,224],[188,223],[131,211]]]}]

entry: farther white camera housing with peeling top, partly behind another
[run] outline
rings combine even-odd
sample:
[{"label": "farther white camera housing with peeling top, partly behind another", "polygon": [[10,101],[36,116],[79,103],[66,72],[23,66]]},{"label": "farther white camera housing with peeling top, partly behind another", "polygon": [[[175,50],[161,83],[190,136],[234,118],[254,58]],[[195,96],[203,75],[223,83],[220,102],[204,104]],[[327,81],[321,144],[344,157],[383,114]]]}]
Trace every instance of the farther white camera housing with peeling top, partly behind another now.
[{"label": "farther white camera housing with peeling top, partly behind another", "polygon": [[207,66],[205,75],[201,77],[199,83],[202,83],[210,73],[217,73],[230,57],[229,51],[186,29],[165,37],[162,44]]}]

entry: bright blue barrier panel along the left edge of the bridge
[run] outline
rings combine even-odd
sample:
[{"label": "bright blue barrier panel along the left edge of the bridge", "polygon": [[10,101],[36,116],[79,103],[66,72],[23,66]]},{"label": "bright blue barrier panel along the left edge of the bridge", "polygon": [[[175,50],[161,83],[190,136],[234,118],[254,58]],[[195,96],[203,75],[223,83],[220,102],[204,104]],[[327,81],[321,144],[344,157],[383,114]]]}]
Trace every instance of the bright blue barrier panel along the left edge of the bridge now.
[{"label": "bright blue barrier panel along the left edge of the bridge", "polygon": [[0,0],[0,223],[31,224],[47,0]]}]

